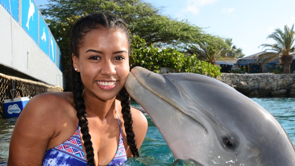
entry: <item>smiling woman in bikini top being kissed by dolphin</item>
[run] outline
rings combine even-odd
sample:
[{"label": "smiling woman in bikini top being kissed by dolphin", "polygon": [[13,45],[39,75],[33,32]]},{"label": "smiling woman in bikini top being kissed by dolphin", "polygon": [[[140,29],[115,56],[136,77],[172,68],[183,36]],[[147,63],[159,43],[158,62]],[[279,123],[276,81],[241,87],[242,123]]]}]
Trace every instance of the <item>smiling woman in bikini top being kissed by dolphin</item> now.
[{"label": "smiling woman in bikini top being kissed by dolphin", "polygon": [[121,165],[126,156],[139,156],[148,124],[130,109],[124,88],[126,25],[105,14],[81,18],[71,49],[73,92],[44,93],[27,103],[11,136],[8,165]]}]

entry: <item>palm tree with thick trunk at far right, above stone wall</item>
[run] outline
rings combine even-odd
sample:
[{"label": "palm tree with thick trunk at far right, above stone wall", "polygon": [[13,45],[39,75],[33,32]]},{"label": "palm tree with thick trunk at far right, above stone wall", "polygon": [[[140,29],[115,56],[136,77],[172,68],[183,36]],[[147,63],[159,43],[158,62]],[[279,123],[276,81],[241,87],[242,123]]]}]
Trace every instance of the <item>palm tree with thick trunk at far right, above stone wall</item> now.
[{"label": "palm tree with thick trunk at far right, above stone wall", "polygon": [[295,45],[293,45],[295,40],[295,32],[293,28],[294,24],[291,29],[285,25],[284,32],[280,29],[275,29],[274,32],[267,37],[267,39],[271,38],[275,40],[276,43],[260,45],[263,46],[263,48],[270,48],[265,49],[265,53],[258,55],[257,62],[261,61],[262,64],[265,64],[278,57],[284,65],[283,73],[290,73],[290,65],[293,61],[293,54],[295,53]]}]

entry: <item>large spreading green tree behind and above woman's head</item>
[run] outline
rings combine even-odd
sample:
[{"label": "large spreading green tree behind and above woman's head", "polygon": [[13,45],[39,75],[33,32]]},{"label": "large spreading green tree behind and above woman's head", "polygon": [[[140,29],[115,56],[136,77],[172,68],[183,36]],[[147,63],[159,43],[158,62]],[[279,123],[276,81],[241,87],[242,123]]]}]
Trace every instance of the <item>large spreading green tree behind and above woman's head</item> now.
[{"label": "large spreading green tree behind and above woman's head", "polygon": [[145,47],[154,44],[177,48],[182,43],[198,41],[203,33],[186,21],[160,15],[160,9],[141,0],[49,0],[45,6],[41,13],[48,18],[46,22],[60,46],[64,70],[71,67],[70,30],[77,19],[87,14],[104,12],[123,18],[131,34],[145,39]]}]

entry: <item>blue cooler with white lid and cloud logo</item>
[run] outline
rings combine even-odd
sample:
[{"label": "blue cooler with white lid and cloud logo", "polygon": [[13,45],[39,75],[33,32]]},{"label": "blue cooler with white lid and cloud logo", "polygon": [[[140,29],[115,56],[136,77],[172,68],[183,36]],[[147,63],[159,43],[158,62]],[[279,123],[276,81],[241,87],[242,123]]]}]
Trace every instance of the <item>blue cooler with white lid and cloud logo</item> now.
[{"label": "blue cooler with white lid and cloud logo", "polygon": [[29,100],[30,97],[14,98],[13,101],[10,99],[4,100],[3,106],[6,118],[18,117]]}]

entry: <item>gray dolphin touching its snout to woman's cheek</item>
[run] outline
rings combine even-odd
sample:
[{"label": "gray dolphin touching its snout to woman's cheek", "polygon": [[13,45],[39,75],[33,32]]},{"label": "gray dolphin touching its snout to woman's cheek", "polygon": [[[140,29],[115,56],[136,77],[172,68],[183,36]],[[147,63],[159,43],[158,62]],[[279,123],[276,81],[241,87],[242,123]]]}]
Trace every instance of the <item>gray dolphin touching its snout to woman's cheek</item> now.
[{"label": "gray dolphin touching its snout to woman's cheek", "polygon": [[196,165],[295,165],[294,145],[281,124],[221,81],[135,67],[125,87],[155,123],[175,159]]}]

